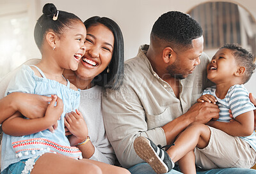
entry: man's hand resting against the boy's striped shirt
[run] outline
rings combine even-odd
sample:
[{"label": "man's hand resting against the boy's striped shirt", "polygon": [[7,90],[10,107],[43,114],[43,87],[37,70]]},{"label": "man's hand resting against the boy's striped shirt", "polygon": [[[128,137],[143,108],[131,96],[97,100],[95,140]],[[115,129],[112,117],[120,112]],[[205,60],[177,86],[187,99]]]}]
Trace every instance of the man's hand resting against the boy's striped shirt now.
[{"label": "man's hand resting against the boy's striped shirt", "polygon": [[193,122],[201,122],[203,124],[209,122],[210,120],[218,119],[220,109],[218,105],[214,105],[213,103],[195,103],[195,105],[191,106],[186,115],[189,115]]}]

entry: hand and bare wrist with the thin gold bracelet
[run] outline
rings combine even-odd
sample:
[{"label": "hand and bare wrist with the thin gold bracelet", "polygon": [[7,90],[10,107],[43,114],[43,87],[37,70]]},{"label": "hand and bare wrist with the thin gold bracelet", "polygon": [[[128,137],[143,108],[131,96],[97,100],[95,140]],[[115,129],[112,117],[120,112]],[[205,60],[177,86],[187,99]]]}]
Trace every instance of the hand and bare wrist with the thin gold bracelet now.
[{"label": "hand and bare wrist with the thin gold bracelet", "polygon": [[[70,132],[68,140],[71,146],[75,146],[86,140],[88,128],[81,112],[76,110],[76,112],[67,113],[64,121],[67,130]],[[77,147],[81,150],[83,158],[86,159],[92,157],[95,152],[94,146],[90,140],[83,145],[77,145]]]}]

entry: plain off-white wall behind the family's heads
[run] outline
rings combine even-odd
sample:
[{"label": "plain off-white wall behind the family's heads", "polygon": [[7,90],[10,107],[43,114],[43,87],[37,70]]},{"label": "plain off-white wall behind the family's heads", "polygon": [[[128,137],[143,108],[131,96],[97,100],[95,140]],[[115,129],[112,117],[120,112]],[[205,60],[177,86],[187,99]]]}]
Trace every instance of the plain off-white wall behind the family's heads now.
[{"label": "plain off-white wall behind the family's heads", "polygon": [[[10,0],[0,0],[6,1]],[[15,1],[15,0],[12,0]],[[31,26],[35,25],[36,18],[42,15],[42,7],[45,3],[53,3],[57,9],[75,13],[82,20],[98,15],[100,17],[109,17],[115,20],[122,29],[125,40],[125,59],[134,57],[138,52],[138,47],[144,43],[149,43],[149,35],[152,25],[157,18],[166,11],[177,10],[184,13],[188,12],[194,6],[209,2],[209,0],[26,0],[35,10],[35,19],[31,19]],[[215,0],[212,0],[215,1]],[[23,1],[24,2],[24,1]],[[256,18],[255,0],[228,0],[246,8]],[[32,10],[32,11],[33,11]],[[32,35],[33,33],[31,33]],[[1,38],[0,38],[1,39]],[[40,53],[35,45],[31,46],[31,57],[40,57]],[[252,76],[250,82],[246,84],[248,91],[256,96],[256,75]]]}]

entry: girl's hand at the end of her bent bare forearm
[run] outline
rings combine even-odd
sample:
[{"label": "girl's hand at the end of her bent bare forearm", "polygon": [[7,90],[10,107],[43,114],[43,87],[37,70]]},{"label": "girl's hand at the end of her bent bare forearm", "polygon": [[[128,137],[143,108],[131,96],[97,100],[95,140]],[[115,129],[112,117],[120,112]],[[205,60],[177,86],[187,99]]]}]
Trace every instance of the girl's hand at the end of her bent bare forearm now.
[{"label": "girl's hand at the end of her bent bare forearm", "polygon": [[[56,106],[54,106],[56,103]],[[50,126],[56,125],[63,113],[63,101],[56,95],[52,95],[52,101],[46,109],[45,119],[49,121]]]}]

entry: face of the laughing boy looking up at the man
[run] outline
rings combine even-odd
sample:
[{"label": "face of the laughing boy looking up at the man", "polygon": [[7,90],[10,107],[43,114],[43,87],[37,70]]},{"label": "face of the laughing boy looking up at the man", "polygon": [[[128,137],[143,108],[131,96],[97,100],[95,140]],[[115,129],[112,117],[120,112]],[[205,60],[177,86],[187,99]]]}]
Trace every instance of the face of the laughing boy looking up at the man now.
[{"label": "face of the laughing boy looking up at the man", "polygon": [[232,55],[232,50],[221,48],[207,65],[207,78],[216,85],[232,82],[237,69],[238,66],[234,55]]}]

